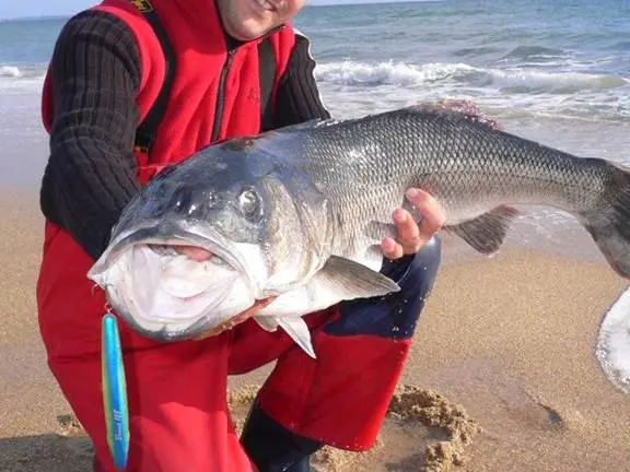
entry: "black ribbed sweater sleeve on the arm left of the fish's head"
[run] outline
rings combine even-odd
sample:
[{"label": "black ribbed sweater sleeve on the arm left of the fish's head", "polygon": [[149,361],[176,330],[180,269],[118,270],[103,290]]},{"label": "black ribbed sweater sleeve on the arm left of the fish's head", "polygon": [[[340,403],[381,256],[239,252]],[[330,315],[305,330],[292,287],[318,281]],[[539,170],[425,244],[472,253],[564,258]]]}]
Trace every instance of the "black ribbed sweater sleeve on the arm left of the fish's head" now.
[{"label": "black ribbed sweater sleeve on the arm left of the fish's head", "polygon": [[133,34],[89,11],[61,31],[50,62],[54,116],[40,206],[94,259],[139,191],[132,153],[140,60]]}]

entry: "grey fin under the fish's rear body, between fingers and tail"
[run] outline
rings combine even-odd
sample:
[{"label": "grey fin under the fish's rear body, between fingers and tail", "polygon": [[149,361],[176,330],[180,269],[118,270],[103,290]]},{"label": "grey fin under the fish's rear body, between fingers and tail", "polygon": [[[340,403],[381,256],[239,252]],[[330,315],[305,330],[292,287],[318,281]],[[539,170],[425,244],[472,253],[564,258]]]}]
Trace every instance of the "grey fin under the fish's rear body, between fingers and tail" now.
[{"label": "grey fin under the fish's rear body, between fingers and tail", "polygon": [[477,251],[490,256],[503,245],[512,222],[522,215],[523,213],[513,206],[501,205],[474,220],[446,226],[444,229],[459,236]]}]

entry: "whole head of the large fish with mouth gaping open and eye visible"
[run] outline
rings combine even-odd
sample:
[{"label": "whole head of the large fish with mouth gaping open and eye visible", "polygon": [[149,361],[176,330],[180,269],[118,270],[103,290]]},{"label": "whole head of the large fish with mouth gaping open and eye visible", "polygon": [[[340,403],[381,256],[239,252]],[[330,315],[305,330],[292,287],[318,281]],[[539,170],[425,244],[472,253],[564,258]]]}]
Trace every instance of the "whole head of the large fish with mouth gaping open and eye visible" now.
[{"label": "whole head of the large fish with mouth gaping open and eye visible", "polygon": [[[210,148],[142,188],[88,276],[143,335],[194,338],[298,283],[301,260],[314,272],[303,209],[269,160]],[[211,257],[191,260],[175,246]]]}]

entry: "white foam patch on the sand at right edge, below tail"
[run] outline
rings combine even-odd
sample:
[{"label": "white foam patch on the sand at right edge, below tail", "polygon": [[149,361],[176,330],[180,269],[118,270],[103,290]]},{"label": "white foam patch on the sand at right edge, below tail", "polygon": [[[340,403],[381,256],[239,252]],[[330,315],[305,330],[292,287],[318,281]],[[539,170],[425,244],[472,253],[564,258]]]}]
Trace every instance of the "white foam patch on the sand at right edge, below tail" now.
[{"label": "white foam patch on the sand at right edge, below tail", "polygon": [[610,382],[630,394],[630,288],[605,315],[595,355]]}]

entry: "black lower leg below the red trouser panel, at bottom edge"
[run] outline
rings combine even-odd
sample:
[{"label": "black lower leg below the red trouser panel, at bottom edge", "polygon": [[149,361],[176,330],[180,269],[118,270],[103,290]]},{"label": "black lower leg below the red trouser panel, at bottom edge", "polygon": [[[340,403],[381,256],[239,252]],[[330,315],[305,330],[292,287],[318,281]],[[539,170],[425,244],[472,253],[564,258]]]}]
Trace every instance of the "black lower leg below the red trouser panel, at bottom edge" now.
[{"label": "black lower leg below the red trouser panel, at bottom edge", "polygon": [[257,402],[243,427],[241,444],[259,472],[311,472],[310,457],[324,446],[293,434]]}]

